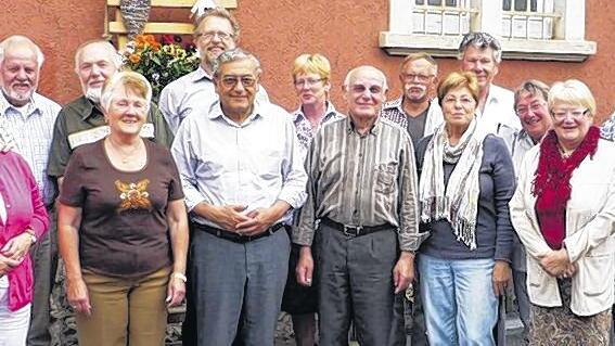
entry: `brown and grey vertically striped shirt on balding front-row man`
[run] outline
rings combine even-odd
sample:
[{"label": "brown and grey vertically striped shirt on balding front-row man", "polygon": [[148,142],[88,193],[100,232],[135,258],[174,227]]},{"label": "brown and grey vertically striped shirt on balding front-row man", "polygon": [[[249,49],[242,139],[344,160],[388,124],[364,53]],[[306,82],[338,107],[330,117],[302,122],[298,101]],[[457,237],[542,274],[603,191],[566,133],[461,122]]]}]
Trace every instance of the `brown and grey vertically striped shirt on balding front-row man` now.
[{"label": "brown and grey vertically striped shirt on balding front-row man", "polygon": [[293,242],[311,245],[319,219],[348,226],[389,223],[401,251],[417,251],[417,166],[408,132],[379,118],[359,134],[349,117],[325,124],[306,158],[308,196]]}]

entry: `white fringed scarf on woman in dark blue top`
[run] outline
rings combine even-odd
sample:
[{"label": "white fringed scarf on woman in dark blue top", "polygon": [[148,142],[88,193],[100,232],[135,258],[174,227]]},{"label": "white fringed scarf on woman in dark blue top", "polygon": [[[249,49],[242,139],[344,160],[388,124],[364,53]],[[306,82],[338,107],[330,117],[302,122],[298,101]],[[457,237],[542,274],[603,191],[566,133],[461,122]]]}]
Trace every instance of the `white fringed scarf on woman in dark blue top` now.
[{"label": "white fringed scarf on woman in dark blue top", "polygon": [[[476,248],[476,215],[481,193],[478,171],[483,163],[485,136],[474,118],[459,143],[451,146],[446,124],[443,124],[427,144],[419,183],[421,220],[446,219],[457,241],[463,242],[471,251]],[[456,164],[446,187],[443,163]]]}]

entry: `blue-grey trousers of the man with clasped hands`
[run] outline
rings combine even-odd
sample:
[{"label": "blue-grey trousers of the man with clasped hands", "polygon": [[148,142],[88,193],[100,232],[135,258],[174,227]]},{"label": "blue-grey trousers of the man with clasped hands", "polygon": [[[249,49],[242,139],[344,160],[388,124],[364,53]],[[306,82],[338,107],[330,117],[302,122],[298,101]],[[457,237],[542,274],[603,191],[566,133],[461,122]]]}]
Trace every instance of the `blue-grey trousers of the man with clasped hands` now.
[{"label": "blue-grey trousers of the man with clasped hands", "polygon": [[194,345],[231,345],[241,316],[245,345],[273,346],[289,266],[286,232],[239,244],[195,230],[191,247]]}]

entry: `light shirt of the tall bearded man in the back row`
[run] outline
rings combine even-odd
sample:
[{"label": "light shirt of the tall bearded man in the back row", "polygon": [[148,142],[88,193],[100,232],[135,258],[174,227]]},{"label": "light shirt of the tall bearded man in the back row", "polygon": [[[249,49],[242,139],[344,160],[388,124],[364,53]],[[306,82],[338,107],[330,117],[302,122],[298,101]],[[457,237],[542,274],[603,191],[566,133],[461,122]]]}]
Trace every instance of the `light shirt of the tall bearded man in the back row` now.
[{"label": "light shirt of the tall bearded man in the back row", "polygon": [[[262,86],[259,86],[256,99],[269,102],[269,97]],[[205,113],[217,100],[218,93],[216,93],[214,79],[203,67],[198,67],[166,86],[161,92],[158,107],[171,131],[177,133],[179,125],[189,114]]]}]

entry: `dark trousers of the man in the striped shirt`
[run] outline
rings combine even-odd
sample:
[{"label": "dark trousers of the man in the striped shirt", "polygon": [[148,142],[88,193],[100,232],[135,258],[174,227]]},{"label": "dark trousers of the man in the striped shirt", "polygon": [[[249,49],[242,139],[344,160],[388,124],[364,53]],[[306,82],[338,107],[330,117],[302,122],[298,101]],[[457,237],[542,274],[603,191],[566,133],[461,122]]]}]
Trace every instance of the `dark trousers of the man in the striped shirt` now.
[{"label": "dark trousers of the man in the striped shirt", "polygon": [[347,345],[350,321],[361,346],[402,345],[405,335],[394,323],[395,230],[346,238],[321,223],[315,246],[320,269],[320,345]]}]

